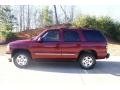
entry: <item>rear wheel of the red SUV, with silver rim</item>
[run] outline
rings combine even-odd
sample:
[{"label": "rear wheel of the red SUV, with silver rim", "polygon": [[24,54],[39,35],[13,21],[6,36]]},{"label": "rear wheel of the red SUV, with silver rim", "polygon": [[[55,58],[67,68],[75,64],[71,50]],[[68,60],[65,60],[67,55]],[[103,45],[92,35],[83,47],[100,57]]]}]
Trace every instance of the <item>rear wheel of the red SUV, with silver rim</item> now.
[{"label": "rear wheel of the red SUV, with silver rim", "polygon": [[82,69],[92,69],[95,64],[95,56],[92,53],[84,53],[79,57],[79,64]]}]

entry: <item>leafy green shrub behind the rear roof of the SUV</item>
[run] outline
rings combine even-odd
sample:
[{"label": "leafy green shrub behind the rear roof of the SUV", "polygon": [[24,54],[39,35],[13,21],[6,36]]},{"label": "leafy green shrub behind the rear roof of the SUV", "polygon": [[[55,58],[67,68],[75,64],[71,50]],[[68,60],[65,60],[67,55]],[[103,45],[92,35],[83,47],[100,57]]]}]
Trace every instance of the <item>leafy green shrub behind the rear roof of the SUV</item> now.
[{"label": "leafy green shrub behind the rear roof of the SUV", "polygon": [[72,25],[82,28],[95,28],[101,30],[106,36],[120,41],[120,22],[115,22],[110,17],[79,16]]}]

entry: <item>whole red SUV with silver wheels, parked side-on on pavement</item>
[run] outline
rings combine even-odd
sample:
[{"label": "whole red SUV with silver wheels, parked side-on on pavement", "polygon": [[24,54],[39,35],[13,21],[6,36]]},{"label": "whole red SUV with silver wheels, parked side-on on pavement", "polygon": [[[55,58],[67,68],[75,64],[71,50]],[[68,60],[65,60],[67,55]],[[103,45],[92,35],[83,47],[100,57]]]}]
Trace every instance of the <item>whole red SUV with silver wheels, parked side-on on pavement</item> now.
[{"label": "whole red SUV with silver wheels, parked side-on on pavement", "polygon": [[28,40],[17,40],[7,46],[14,64],[24,68],[32,60],[77,61],[81,68],[91,69],[96,59],[108,58],[104,35],[93,29],[50,29]]}]

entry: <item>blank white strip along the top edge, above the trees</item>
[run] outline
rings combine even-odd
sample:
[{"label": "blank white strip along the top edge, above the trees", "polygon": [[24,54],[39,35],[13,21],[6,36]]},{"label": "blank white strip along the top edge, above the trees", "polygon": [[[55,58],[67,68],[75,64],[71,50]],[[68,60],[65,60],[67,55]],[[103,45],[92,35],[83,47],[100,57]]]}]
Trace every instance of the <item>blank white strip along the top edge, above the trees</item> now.
[{"label": "blank white strip along the top edge, above the trees", "polygon": [[0,0],[0,4],[31,4],[31,5],[120,5],[119,0]]}]

